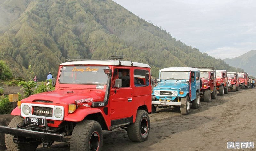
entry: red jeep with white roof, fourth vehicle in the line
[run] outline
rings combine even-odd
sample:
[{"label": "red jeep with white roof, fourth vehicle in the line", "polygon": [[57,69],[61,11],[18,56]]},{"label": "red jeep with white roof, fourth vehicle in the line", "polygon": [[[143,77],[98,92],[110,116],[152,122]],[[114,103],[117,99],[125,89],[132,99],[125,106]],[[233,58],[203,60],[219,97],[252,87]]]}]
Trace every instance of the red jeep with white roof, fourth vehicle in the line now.
[{"label": "red jeep with white roof, fourth vehicle in the line", "polygon": [[217,91],[219,95],[228,94],[228,76],[226,70],[216,70]]}]

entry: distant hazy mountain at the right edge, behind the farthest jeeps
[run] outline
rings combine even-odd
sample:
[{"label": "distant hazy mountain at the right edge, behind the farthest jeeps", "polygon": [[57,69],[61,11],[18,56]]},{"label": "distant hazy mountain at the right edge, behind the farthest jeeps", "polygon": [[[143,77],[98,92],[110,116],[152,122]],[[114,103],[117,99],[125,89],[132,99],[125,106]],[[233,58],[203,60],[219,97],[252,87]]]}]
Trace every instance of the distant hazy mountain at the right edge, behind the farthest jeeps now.
[{"label": "distant hazy mountain at the right edge, behind the farthest jeeps", "polygon": [[249,75],[256,77],[256,50],[249,51],[233,59],[224,59],[224,61],[236,68],[242,68]]}]

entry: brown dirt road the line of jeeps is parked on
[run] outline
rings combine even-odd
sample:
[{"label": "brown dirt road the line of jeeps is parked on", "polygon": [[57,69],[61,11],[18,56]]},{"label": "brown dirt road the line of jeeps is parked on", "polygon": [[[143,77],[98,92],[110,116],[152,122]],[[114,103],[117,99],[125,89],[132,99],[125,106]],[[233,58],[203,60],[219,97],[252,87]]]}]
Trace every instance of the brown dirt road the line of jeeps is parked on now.
[{"label": "brown dirt road the line of jeeps is parked on", "polygon": [[[177,109],[157,109],[150,115],[148,140],[131,142],[123,129],[104,131],[103,151],[211,151],[227,149],[227,142],[254,142],[256,148],[256,89],[229,92],[199,109],[181,115]],[[37,151],[68,151],[65,144]]]}]

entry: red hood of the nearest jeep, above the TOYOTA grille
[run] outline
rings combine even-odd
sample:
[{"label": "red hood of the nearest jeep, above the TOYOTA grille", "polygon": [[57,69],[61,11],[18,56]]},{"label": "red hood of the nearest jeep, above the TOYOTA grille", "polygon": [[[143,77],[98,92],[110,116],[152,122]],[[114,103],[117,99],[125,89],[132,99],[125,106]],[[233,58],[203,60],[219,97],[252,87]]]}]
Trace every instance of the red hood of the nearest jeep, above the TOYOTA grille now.
[{"label": "red hood of the nearest jeep, above the TOYOTA grille", "polygon": [[75,101],[78,103],[103,101],[104,95],[105,92],[97,90],[63,89],[34,94],[22,101],[48,100],[53,103],[72,104]]}]

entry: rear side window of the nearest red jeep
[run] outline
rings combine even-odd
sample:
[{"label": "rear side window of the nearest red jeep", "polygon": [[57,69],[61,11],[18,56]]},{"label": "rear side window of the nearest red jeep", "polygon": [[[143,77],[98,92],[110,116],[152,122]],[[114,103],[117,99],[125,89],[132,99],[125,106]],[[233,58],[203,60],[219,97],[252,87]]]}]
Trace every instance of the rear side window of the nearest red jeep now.
[{"label": "rear side window of the nearest red jeep", "polygon": [[[149,76],[149,74],[148,74]],[[146,70],[134,70],[134,85],[138,86],[146,86]],[[149,81],[148,81],[149,82]]]}]

